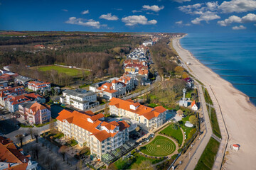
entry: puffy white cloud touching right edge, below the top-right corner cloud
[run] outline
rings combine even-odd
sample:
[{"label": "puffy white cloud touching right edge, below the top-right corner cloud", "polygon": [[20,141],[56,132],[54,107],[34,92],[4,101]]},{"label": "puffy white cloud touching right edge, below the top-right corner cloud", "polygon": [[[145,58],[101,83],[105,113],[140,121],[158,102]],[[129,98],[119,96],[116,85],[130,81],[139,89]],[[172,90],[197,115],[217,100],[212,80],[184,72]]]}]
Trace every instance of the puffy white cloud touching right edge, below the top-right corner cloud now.
[{"label": "puffy white cloud touching right edge, below the top-right corner cloud", "polygon": [[248,13],[246,16],[240,18],[239,16],[230,16],[223,21],[218,21],[220,26],[229,26],[231,23],[254,23],[256,22],[256,15]]}]

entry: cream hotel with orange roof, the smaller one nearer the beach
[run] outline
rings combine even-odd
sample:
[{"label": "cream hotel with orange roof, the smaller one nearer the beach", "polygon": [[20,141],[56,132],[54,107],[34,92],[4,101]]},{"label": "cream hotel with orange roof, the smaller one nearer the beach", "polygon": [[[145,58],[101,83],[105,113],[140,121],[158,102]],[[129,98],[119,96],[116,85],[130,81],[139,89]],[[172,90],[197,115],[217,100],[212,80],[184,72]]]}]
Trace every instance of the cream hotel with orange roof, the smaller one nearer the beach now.
[{"label": "cream hotel with orange roof, the smaller one nearer the beach", "polygon": [[166,121],[166,109],[163,106],[150,108],[140,103],[134,103],[131,99],[112,98],[110,100],[110,114],[127,116],[142,123],[149,130],[159,128]]}]

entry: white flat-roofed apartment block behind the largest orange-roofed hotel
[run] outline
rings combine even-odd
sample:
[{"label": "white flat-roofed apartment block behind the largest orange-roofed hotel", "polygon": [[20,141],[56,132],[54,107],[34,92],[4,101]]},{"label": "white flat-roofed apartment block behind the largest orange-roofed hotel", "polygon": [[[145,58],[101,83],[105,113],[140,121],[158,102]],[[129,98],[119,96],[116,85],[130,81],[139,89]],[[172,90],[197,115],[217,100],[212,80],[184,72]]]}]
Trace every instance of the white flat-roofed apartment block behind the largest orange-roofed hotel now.
[{"label": "white flat-roofed apartment block behind the largest orange-roofed hotel", "polygon": [[85,89],[63,91],[63,97],[60,98],[60,103],[68,104],[82,111],[100,104],[97,101],[97,94]]}]

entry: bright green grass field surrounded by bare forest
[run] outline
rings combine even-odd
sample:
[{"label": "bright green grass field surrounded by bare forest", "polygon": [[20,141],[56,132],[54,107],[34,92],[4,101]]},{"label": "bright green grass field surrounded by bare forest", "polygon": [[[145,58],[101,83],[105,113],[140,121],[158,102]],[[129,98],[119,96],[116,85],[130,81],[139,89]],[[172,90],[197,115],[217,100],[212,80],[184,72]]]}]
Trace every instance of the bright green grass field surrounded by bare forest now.
[{"label": "bright green grass field surrounded by bare forest", "polygon": [[56,70],[58,73],[65,73],[68,74],[68,76],[71,77],[78,77],[82,75],[82,72],[85,72],[85,75],[90,74],[89,71],[84,71],[84,70],[80,70],[80,69],[71,69],[68,67],[60,67],[60,66],[55,66],[55,65],[48,65],[48,66],[41,66],[41,67],[37,67],[39,71],[41,72],[47,72],[50,71],[52,69]]}]

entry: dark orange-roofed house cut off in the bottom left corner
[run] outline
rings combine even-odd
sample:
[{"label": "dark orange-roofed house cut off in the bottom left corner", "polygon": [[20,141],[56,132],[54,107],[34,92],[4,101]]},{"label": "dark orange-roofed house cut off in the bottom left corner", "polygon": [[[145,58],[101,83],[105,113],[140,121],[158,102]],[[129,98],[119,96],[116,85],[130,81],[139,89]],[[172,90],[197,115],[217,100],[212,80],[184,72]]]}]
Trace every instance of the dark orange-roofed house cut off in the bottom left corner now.
[{"label": "dark orange-roofed house cut off in the bottom left corner", "polygon": [[0,169],[37,170],[38,163],[31,161],[31,156],[24,154],[13,141],[0,136]]}]

